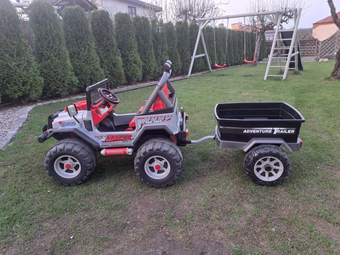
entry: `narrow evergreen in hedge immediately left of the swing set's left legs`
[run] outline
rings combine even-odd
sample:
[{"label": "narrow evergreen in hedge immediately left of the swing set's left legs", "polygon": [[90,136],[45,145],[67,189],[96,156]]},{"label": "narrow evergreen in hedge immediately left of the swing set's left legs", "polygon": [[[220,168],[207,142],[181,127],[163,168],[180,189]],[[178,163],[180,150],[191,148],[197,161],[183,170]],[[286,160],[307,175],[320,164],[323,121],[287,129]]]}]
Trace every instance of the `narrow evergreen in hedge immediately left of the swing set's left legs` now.
[{"label": "narrow evergreen in hedge immediately left of the swing set's left legs", "polygon": [[186,21],[177,21],[177,49],[181,57],[182,70],[181,73],[188,73],[190,67],[190,41],[189,41],[189,26]]}]

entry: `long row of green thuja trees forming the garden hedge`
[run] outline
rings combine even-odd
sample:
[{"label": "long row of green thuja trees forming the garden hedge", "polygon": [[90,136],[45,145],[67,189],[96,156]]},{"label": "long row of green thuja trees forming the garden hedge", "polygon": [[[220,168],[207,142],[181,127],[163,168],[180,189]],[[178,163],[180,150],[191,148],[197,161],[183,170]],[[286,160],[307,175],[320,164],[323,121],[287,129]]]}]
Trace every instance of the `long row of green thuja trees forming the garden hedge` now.
[{"label": "long row of green thuja trees forming the garden hedge", "polygon": [[[83,8],[70,6],[63,11],[62,30],[46,2],[37,1],[31,9],[36,61],[14,7],[0,0],[0,94],[6,98],[37,99],[42,89],[43,96],[63,95],[82,91],[103,78],[116,86],[157,79],[168,58],[173,63],[173,74],[187,74],[189,70],[199,29],[195,23],[179,21],[174,25],[138,16],[131,20],[128,14],[117,13],[114,27],[107,11],[100,10],[92,12],[90,29]],[[225,28],[214,31],[207,26],[203,34],[211,67],[215,62],[223,65],[224,61],[227,65],[243,64],[244,39],[246,58],[253,60],[255,33],[246,33],[244,38],[242,31],[228,30],[227,48]],[[196,54],[202,53],[200,39]],[[263,37],[259,60],[266,55]],[[193,71],[207,69],[205,57],[195,59]]]}]

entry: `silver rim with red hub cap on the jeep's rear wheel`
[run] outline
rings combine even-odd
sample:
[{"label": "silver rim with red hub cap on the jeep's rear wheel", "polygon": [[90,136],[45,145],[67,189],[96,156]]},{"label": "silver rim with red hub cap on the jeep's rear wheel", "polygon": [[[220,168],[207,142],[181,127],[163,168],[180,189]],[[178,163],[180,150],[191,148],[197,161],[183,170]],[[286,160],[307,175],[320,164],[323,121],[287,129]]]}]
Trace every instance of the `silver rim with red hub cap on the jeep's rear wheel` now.
[{"label": "silver rim with red hub cap on the jeep's rear wheel", "polygon": [[144,165],[145,172],[152,179],[164,179],[170,173],[169,161],[161,156],[153,156],[148,158]]}]

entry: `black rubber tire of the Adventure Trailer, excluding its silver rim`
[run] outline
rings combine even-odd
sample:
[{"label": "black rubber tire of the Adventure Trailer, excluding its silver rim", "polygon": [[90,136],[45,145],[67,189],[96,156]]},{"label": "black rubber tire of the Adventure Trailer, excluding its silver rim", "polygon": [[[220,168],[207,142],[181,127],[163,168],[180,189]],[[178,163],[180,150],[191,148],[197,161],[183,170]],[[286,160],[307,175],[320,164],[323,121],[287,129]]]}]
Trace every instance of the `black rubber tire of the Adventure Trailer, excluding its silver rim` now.
[{"label": "black rubber tire of the Adventure Trailer, excluding its silver rim", "polygon": [[[278,159],[282,163],[283,165],[282,174],[276,180],[264,181],[259,179],[258,176],[256,176],[254,169],[255,164],[258,162],[258,160],[264,157],[273,157]],[[276,164],[279,165],[279,163]],[[248,175],[248,177],[254,183],[263,186],[276,186],[278,184],[282,184],[283,181],[287,179],[291,169],[291,164],[288,154],[280,147],[277,147],[275,145],[260,145],[250,150],[248,154],[246,154],[243,162],[243,168],[246,175]],[[258,172],[260,172],[260,170]]]}]

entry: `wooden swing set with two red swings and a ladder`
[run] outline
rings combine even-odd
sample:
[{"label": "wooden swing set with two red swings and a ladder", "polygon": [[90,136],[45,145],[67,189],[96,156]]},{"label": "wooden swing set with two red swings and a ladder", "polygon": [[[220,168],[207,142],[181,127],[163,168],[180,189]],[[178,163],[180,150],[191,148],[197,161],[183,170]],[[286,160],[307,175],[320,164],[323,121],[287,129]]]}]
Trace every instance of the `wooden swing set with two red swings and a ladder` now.
[{"label": "wooden swing set with two red swings and a ladder", "polygon": [[[207,60],[207,65],[209,67],[209,70],[211,70],[211,66],[210,66],[210,61],[209,61],[209,56],[207,53],[207,49],[206,49],[206,45],[205,45],[205,41],[204,41],[204,36],[203,36],[203,28],[210,22],[210,21],[215,21],[215,20],[220,20],[220,19],[227,19],[227,34],[226,34],[226,42],[225,42],[225,55],[224,55],[224,64],[223,65],[219,65],[217,63],[217,55],[216,55],[216,34],[215,34],[215,26],[214,26],[214,45],[215,45],[215,64],[214,66],[216,68],[223,68],[227,66],[226,63],[226,55],[227,55],[227,47],[228,47],[228,27],[229,27],[229,19],[230,18],[244,18],[244,23],[245,23],[245,17],[251,17],[251,16],[265,16],[266,18],[268,18],[270,21],[272,21],[274,23],[274,25],[276,26],[276,30],[275,30],[275,34],[274,34],[274,39],[273,39],[273,45],[272,45],[272,49],[270,52],[269,57],[269,61],[268,61],[268,65],[267,65],[267,69],[266,69],[266,74],[265,74],[265,80],[267,79],[268,76],[282,76],[283,80],[287,77],[287,72],[289,69],[293,69],[293,68],[289,68],[289,64],[291,62],[295,63],[295,67],[294,69],[297,70],[297,66],[298,66],[298,58],[297,58],[297,54],[299,54],[299,51],[297,51],[297,45],[298,45],[298,39],[297,39],[297,28],[299,25],[299,19],[300,19],[300,15],[301,15],[301,8],[299,8],[299,11],[297,11],[297,9],[294,9],[294,29],[291,30],[281,30],[280,28],[280,21],[283,15],[283,10],[275,10],[275,11],[265,11],[265,12],[257,12],[257,13],[244,13],[244,14],[236,14],[236,15],[226,15],[226,16],[217,16],[217,17],[206,17],[206,18],[199,18],[197,19],[198,21],[198,25],[199,25],[199,31],[197,34],[197,39],[196,39],[196,44],[195,44],[195,48],[191,57],[191,63],[190,63],[190,67],[189,67],[189,72],[188,72],[188,78],[190,77],[191,71],[192,71],[192,66],[193,66],[193,62],[195,60],[195,58],[198,57],[206,57]],[[282,39],[280,38],[280,35],[278,35],[279,32],[284,32],[284,31],[293,31],[293,35],[292,38],[286,38],[286,39]],[[258,36],[258,28],[256,27],[256,40],[257,40],[257,36]],[[199,54],[196,55],[196,51],[197,51],[197,47],[199,44],[199,40],[202,40],[202,44],[203,44],[203,49],[204,49],[204,53],[203,54]],[[255,46],[255,53],[254,53],[254,59],[253,60],[247,60],[246,59],[246,48],[245,48],[245,40],[246,40],[246,36],[245,36],[245,29],[244,29],[244,50],[243,50],[243,54],[244,54],[244,63],[254,63],[256,62],[256,50],[257,50],[257,45]],[[290,42],[290,46],[288,47],[284,47],[284,48],[280,48],[279,47],[279,43],[277,44],[277,48],[275,48],[276,46],[276,42],[277,41],[282,41],[282,40],[291,40]],[[294,48],[295,46],[295,48]],[[292,53],[294,48],[295,53]],[[285,57],[283,56],[278,56],[275,57],[277,54],[280,54],[280,50],[282,49],[289,49],[288,54],[283,54],[283,55],[287,55]],[[274,53],[274,50],[278,50],[278,53]],[[295,56],[295,61],[288,61],[290,60],[293,56]],[[270,67],[276,67],[276,66],[271,66],[271,61],[273,58],[278,58],[279,59],[279,70],[281,70],[281,68],[283,68],[281,66],[281,62],[286,62],[286,67],[285,67],[285,72],[284,75],[269,75],[269,68]],[[285,61],[284,59],[287,59],[287,61]],[[281,60],[283,59],[283,61]]]}]

